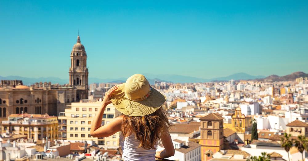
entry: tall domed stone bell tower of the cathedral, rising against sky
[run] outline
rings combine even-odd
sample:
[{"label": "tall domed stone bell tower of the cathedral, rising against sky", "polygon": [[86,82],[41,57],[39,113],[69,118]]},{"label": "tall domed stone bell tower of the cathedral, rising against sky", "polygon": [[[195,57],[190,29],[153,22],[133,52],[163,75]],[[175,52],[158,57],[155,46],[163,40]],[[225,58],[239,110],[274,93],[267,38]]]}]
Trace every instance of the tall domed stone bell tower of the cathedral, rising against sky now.
[{"label": "tall domed stone bell tower of the cathedral, rising against sky", "polygon": [[76,101],[88,98],[88,68],[87,53],[84,46],[80,43],[78,34],[77,43],[71,52],[71,67],[69,69],[69,85],[77,89]]}]

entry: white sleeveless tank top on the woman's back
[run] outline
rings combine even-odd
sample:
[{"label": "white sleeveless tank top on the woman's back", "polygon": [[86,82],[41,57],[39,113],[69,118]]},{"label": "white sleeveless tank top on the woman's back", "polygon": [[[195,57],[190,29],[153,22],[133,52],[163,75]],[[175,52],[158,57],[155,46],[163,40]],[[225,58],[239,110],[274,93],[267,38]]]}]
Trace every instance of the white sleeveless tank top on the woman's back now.
[{"label": "white sleeveless tank top on the woman's back", "polygon": [[[124,141],[122,138],[120,140],[124,161],[155,161],[156,149],[147,150],[143,147],[138,147],[140,141],[135,139],[134,134],[125,137]],[[157,144],[155,145],[156,147]]]}]

